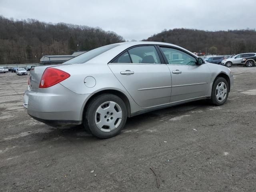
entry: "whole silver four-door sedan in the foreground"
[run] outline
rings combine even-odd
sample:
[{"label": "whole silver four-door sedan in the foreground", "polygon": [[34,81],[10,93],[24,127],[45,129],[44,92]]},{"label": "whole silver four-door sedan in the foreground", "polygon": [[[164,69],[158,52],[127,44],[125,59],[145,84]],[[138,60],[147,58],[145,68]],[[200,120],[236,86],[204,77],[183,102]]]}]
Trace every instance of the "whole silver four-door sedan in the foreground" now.
[{"label": "whole silver four-door sedan in the foreground", "polygon": [[229,68],[179,46],[124,42],[32,68],[23,105],[48,125],[83,124],[94,136],[110,138],[127,117],[201,99],[222,105],[232,85]]}]

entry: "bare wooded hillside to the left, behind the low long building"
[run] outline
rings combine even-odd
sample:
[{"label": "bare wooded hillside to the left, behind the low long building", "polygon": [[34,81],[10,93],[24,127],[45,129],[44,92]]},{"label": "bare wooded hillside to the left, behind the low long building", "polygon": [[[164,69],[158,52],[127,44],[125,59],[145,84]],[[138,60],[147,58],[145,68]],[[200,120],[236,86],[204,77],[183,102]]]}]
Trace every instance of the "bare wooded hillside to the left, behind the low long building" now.
[{"label": "bare wooded hillside to the left, behind the low long building", "polygon": [[0,64],[36,63],[42,55],[71,54],[77,44],[79,50],[91,50],[123,41],[101,28],[0,16]]}]

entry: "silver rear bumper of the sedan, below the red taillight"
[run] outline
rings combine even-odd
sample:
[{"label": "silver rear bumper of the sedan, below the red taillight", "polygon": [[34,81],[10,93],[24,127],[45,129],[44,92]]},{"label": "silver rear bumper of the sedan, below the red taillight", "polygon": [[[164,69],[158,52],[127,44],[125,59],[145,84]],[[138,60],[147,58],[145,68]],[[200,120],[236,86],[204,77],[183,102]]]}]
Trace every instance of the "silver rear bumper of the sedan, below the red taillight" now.
[{"label": "silver rear bumper of the sedan, below the red taillight", "polygon": [[54,90],[58,94],[53,93],[52,90],[49,92],[26,90],[23,106],[28,114],[51,126],[81,124],[83,109],[91,94],[75,94],[60,84],[54,85]]}]

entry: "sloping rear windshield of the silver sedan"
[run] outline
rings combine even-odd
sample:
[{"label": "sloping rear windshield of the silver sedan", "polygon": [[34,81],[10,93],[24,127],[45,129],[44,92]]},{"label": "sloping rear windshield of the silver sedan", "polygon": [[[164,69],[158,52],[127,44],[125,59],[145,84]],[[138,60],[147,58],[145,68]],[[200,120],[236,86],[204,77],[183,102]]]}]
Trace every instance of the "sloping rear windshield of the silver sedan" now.
[{"label": "sloping rear windshield of the silver sedan", "polygon": [[90,50],[86,53],[78,55],[78,56],[64,62],[63,64],[85,63],[88,60],[91,60],[92,58],[94,58],[94,57],[96,57],[96,56],[98,56],[98,55],[116,47],[116,46],[118,46],[118,44],[106,45],[106,46],[103,46],[103,47],[99,47],[99,48]]}]

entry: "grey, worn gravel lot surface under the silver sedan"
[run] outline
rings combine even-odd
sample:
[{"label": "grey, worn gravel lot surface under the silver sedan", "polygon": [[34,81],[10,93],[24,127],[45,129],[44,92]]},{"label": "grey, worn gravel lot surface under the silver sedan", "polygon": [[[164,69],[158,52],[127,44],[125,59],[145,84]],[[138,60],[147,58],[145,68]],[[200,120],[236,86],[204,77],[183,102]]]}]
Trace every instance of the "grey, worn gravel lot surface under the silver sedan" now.
[{"label": "grey, worn gravel lot surface under the silver sedan", "polygon": [[223,106],[135,116],[106,140],[33,120],[22,106],[28,76],[0,74],[0,191],[255,192],[256,68],[231,69]]}]

